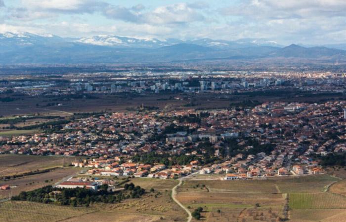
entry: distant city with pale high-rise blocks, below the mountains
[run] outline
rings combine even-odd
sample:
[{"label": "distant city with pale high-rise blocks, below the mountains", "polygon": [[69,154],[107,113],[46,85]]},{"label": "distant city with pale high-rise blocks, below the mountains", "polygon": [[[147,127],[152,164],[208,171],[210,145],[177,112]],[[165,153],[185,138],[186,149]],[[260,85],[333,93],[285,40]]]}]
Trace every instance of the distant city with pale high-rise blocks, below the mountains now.
[{"label": "distant city with pale high-rise blocks, below the mountains", "polygon": [[[97,76],[97,77],[95,77]],[[0,93],[22,93],[29,96],[61,96],[77,93],[235,93],[294,87],[303,91],[345,93],[343,73],[325,72],[121,72],[97,74],[64,74],[61,80],[28,80],[27,76],[0,79]],[[37,79],[37,80],[35,80]],[[69,83],[69,84],[65,84]]]}]

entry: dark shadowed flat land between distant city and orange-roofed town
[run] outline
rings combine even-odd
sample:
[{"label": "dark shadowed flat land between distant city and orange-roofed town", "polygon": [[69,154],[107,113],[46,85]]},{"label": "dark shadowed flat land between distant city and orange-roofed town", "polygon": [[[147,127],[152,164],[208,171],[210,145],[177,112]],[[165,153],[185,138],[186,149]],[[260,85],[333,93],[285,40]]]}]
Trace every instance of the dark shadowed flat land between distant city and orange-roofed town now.
[{"label": "dark shadowed flat land between distant city and orange-roofed town", "polygon": [[[285,101],[285,102],[316,102],[321,99],[333,98],[333,96],[309,95],[306,97],[296,97],[294,95],[283,94],[281,96],[247,96],[247,95],[225,95],[214,93],[201,93],[193,95],[191,100],[194,106],[184,107],[183,105],[190,103],[190,98],[187,100],[174,100],[170,97],[179,96],[185,97],[186,94],[173,94],[173,95],[103,95],[92,94],[91,99],[67,99],[64,98],[44,98],[44,97],[29,97],[21,96],[15,97],[18,100],[8,103],[1,103],[5,105],[6,109],[0,110],[0,115],[13,115],[13,114],[30,114],[30,113],[53,113],[61,112],[71,114],[73,112],[92,112],[92,111],[127,111],[128,108],[136,108],[143,104],[145,106],[156,106],[167,109],[221,109],[229,107],[231,103],[239,103],[246,100],[257,100],[259,102],[266,101]],[[191,95],[188,95],[189,97]],[[340,96],[343,97],[343,96]],[[47,103],[61,103],[62,106],[45,107]],[[39,104],[39,107],[36,107]]]}]

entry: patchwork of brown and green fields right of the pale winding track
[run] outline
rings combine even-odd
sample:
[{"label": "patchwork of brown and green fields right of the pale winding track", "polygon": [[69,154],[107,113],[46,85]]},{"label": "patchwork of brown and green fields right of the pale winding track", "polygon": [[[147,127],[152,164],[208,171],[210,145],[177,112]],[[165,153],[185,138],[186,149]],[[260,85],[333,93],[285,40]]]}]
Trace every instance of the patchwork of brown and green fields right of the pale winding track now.
[{"label": "patchwork of brown and green fields right of the pale winding track", "polygon": [[[266,180],[213,178],[216,179],[196,175],[178,187],[178,200],[190,211],[202,207],[205,221],[276,221],[278,217],[297,222],[319,221],[346,213],[346,198],[326,192],[340,179],[327,174]],[[325,209],[334,212],[321,213]]]}]

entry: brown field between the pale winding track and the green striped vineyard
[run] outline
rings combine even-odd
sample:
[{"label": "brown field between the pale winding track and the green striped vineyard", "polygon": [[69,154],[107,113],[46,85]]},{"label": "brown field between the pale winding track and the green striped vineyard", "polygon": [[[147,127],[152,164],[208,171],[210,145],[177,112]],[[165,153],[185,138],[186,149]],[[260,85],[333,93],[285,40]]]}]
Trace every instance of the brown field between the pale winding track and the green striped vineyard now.
[{"label": "brown field between the pale winding track and the green striped vineyard", "polygon": [[[204,209],[203,220],[275,221],[285,204],[283,194],[269,180],[185,181],[178,188],[177,199],[191,211]],[[195,178],[195,179],[196,179]]]}]

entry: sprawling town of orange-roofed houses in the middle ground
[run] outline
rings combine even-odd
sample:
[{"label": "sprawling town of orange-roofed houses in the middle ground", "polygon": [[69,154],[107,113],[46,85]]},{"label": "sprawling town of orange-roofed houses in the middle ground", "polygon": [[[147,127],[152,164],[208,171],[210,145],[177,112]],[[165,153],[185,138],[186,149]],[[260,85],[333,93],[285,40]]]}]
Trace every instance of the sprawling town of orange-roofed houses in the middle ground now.
[{"label": "sprawling town of orange-roofed houses in the middle ground", "polygon": [[[230,178],[317,174],[323,170],[314,155],[346,151],[345,107],[343,101],[268,102],[214,111],[104,113],[73,120],[59,133],[0,137],[0,153],[99,157],[73,164],[108,176],[176,178],[197,170]],[[148,153],[197,162],[132,162]]]}]

